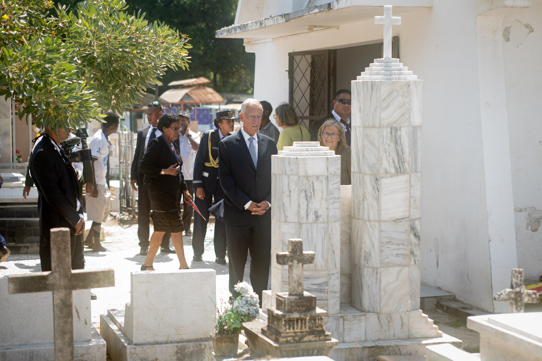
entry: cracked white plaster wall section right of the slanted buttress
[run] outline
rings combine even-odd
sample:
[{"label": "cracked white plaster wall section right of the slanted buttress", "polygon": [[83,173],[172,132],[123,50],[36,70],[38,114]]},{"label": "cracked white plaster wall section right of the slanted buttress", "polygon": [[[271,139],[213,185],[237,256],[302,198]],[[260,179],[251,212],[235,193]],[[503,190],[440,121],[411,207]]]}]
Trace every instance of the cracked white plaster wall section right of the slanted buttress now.
[{"label": "cracked white plaster wall section right of the slanted buttress", "polygon": [[502,22],[518,267],[542,275],[542,2]]}]

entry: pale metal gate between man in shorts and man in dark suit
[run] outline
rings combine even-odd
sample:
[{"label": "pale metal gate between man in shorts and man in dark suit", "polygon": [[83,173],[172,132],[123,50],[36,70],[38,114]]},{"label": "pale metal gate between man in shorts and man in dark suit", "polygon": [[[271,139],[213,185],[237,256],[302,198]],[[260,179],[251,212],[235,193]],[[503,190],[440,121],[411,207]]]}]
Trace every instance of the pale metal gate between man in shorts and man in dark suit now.
[{"label": "pale metal gate between man in shorts and man in dark suit", "polygon": [[134,156],[134,133],[119,132],[120,211],[135,216],[135,191],[130,184]]}]

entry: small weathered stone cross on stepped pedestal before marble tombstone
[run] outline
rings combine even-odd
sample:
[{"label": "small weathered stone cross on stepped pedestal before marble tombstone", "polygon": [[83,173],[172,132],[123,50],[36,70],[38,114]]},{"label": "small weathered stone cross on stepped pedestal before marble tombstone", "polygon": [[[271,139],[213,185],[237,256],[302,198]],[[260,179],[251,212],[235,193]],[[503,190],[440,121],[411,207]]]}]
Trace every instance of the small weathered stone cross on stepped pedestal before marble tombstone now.
[{"label": "small weathered stone cross on stepped pedestal before marble tombstone", "polygon": [[303,252],[302,239],[289,239],[288,252],[278,252],[276,262],[279,265],[288,265],[288,294],[290,296],[303,296],[303,265],[314,262],[315,253]]}]

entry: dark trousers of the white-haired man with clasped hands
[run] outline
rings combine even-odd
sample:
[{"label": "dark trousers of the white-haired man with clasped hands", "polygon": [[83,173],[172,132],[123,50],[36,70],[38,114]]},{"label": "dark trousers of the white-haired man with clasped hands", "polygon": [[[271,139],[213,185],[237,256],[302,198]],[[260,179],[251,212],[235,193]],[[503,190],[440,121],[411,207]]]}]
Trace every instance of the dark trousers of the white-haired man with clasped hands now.
[{"label": "dark trousers of the white-haired man with clasped hands", "polygon": [[254,292],[260,297],[262,306],[262,291],[267,290],[269,281],[269,266],[271,261],[271,226],[261,225],[255,217],[253,225],[226,225],[226,242],[228,244],[228,259],[230,272],[230,292],[234,298],[239,293],[234,286],[243,280],[244,265],[250,252],[250,283]]}]

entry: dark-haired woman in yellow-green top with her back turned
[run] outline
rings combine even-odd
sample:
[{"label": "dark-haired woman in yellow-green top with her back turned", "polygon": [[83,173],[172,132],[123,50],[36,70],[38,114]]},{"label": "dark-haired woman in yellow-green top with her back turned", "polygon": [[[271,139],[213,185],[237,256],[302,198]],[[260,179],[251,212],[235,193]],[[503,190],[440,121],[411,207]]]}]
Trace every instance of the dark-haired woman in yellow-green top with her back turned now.
[{"label": "dark-haired woman in yellow-green top with her back turned", "polygon": [[276,107],[273,117],[276,120],[276,125],[283,129],[276,144],[277,150],[292,146],[294,142],[308,142],[311,140],[311,134],[305,127],[299,125],[299,117],[290,104],[281,103]]}]

